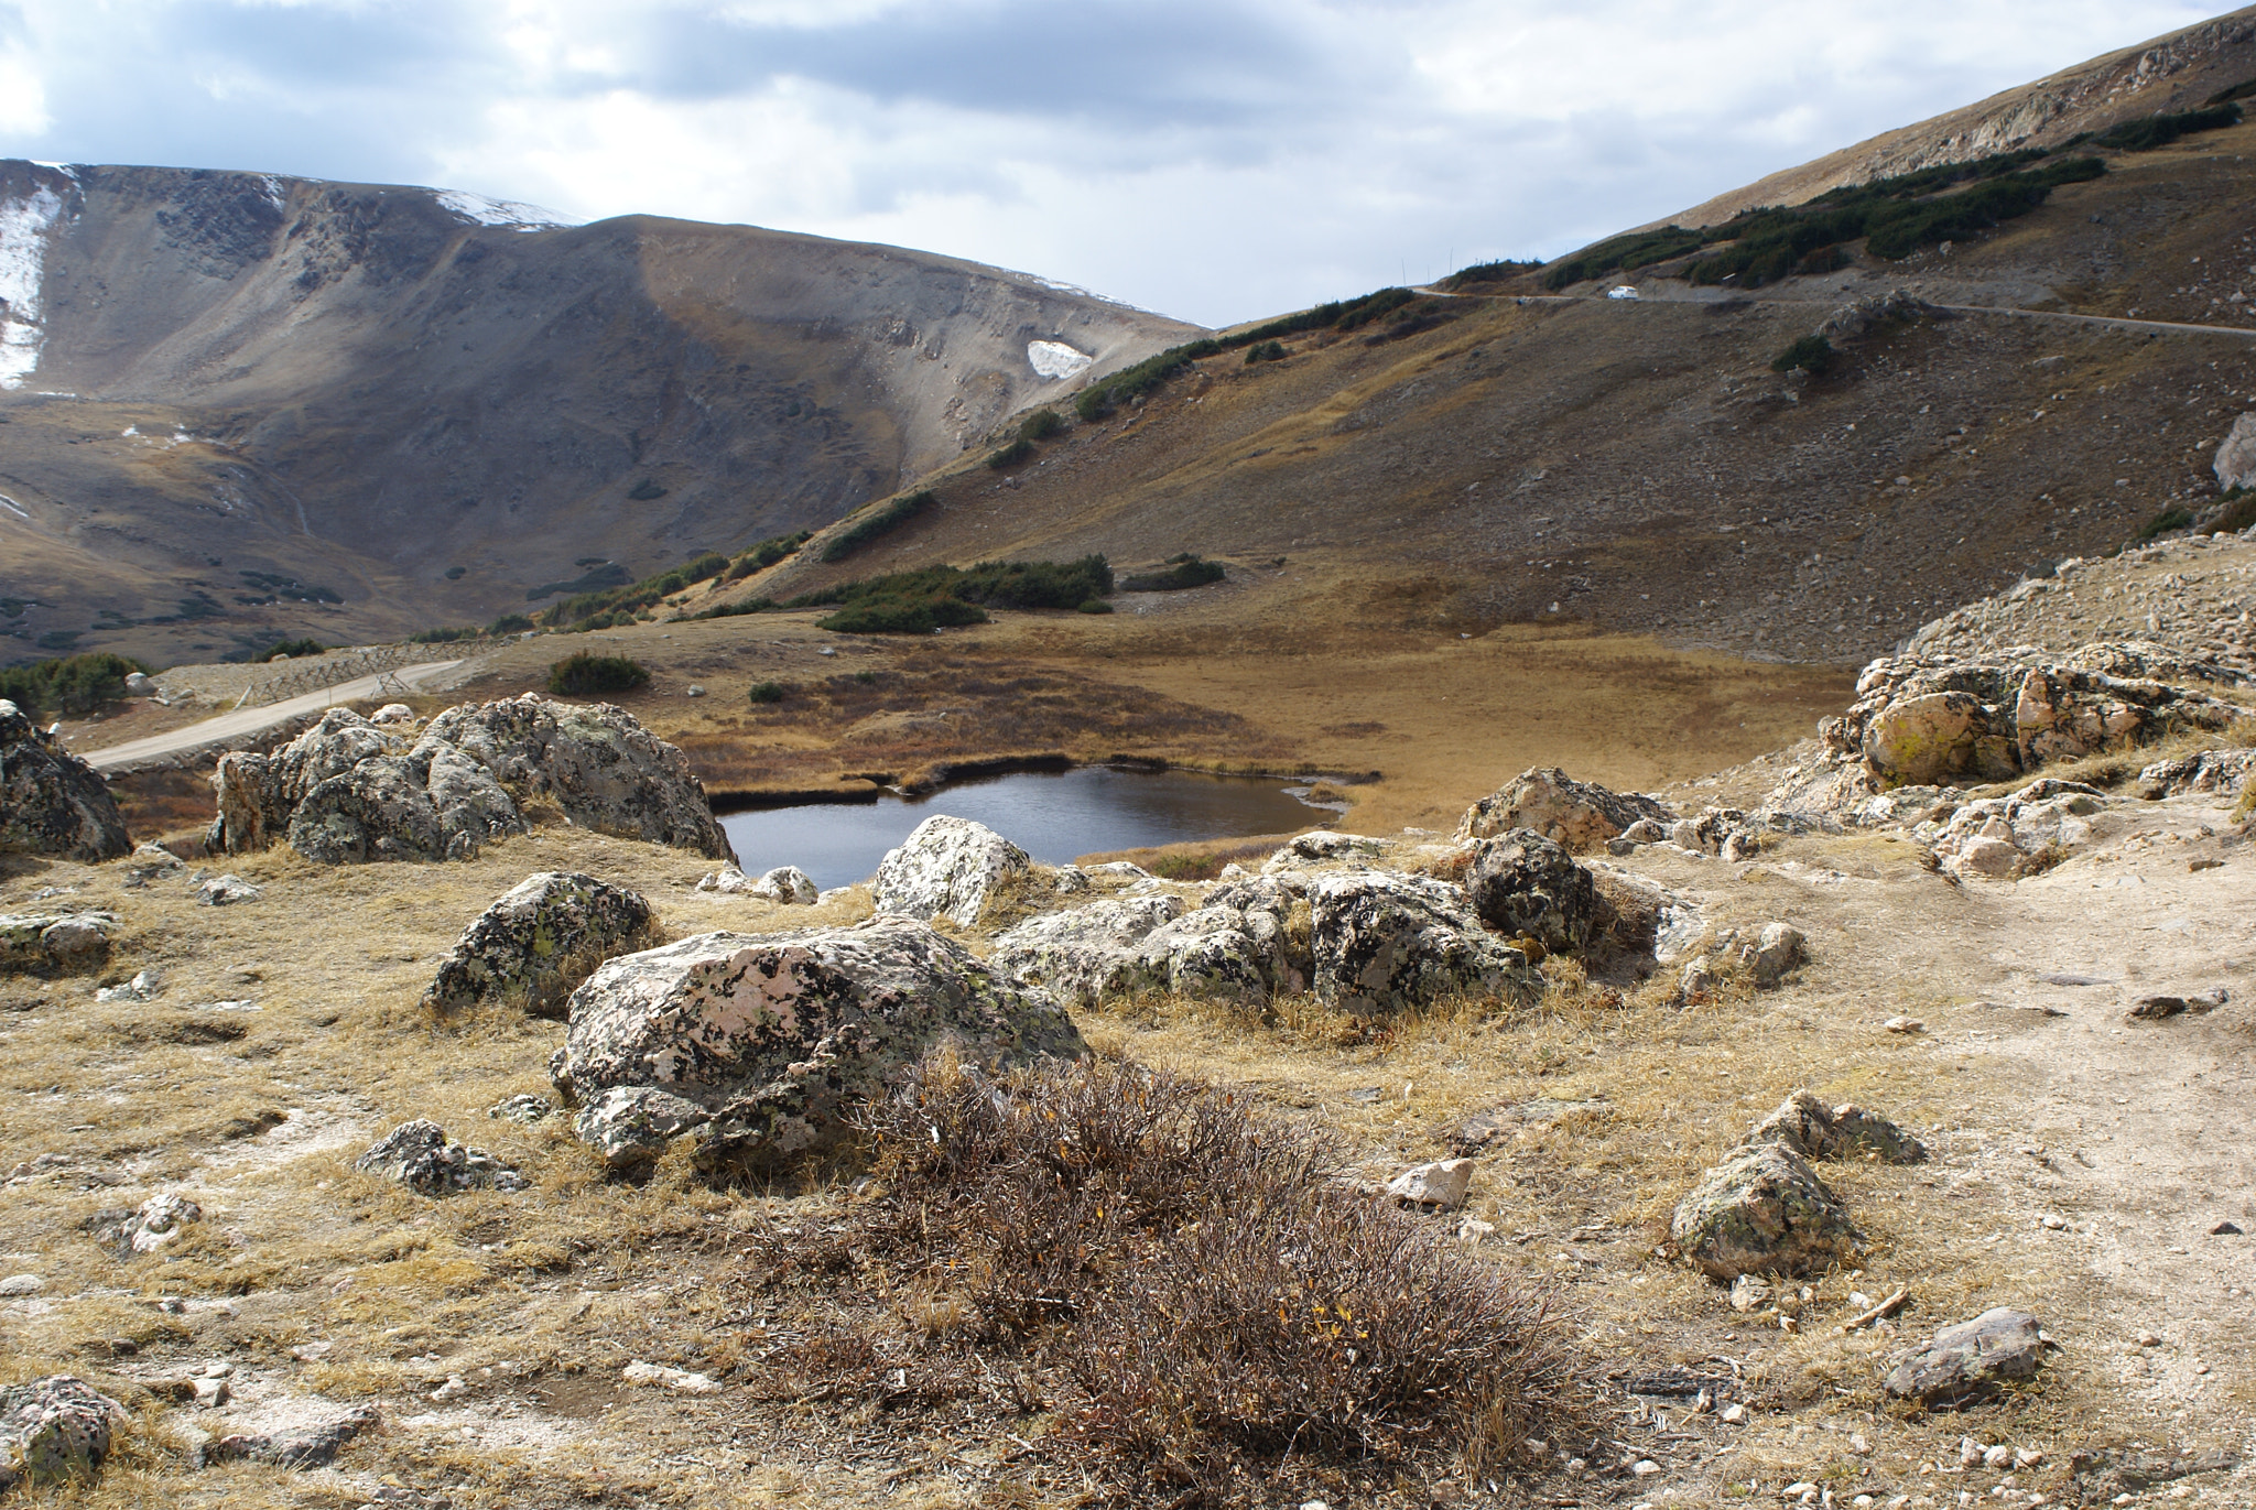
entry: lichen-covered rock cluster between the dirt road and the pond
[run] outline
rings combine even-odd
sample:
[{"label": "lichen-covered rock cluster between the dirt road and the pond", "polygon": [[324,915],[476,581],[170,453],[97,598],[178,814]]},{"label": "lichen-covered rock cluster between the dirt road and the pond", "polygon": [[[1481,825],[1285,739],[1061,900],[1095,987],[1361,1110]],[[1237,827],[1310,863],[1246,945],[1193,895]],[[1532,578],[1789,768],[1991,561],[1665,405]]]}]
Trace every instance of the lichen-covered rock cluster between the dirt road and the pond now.
[{"label": "lichen-covered rock cluster between the dirt road and the pond", "polygon": [[523,799],[553,799],[587,828],[729,858],[704,785],[679,749],[611,704],[523,695],[462,704],[415,745],[350,709],[275,754],[235,752],[212,776],[208,844],[241,853],[287,840],[323,864],[456,860],[521,833]]}]

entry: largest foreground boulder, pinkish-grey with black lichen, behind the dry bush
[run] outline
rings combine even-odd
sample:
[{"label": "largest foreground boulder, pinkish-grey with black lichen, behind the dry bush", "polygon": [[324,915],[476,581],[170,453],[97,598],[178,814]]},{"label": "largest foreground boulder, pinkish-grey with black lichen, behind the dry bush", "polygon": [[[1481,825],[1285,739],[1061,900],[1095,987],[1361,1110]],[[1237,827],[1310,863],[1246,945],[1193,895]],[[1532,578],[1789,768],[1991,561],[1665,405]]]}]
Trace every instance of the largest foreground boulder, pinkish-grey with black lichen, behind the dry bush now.
[{"label": "largest foreground boulder, pinkish-grey with black lichen, behind the dry bush", "polygon": [[929,925],[711,932],[607,962],[571,998],[550,1065],[573,1131],[614,1167],[695,1135],[699,1165],[774,1165],[846,1133],[925,1052],[984,1068],[1085,1054],[1042,991]]}]

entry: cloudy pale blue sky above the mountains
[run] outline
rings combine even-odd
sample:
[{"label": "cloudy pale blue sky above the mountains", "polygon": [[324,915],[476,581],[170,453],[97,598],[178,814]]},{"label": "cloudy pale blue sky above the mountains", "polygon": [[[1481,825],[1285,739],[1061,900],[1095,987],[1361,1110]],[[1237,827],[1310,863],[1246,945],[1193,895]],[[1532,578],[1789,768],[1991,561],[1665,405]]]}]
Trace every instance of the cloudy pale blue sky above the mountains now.
[{"label": "cloudy pale blue sky above the mountains", "polygon": [[2175,0],[0,0],[0,156],[990,262],[1218,325],[1548,257]]}]

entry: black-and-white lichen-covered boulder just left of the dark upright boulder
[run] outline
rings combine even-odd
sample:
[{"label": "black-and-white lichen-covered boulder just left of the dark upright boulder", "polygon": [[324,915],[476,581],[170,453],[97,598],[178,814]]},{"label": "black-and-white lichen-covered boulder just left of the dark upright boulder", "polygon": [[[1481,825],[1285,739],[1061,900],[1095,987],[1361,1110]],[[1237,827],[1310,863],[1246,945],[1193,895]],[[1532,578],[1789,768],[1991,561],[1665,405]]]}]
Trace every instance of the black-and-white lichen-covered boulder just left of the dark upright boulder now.
[{"label": "black-and-white lichen-covered boulder just left of the dark upright boulder", "polygon": [[1489,934],[1464,892],[1430,876],[1315,876],[1308,923],[1315,995],[1356,1016],[1539,989],[1527,955]]}]

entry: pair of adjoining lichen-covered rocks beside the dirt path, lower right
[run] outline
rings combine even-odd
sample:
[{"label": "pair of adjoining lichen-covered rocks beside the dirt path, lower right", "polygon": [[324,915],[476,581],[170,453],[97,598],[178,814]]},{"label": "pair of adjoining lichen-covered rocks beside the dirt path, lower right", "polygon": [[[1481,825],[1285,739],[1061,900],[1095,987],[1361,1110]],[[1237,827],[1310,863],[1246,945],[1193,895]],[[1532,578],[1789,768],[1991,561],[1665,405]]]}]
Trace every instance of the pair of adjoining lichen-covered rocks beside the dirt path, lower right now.
[{"label": "pair of adjoining lichen-covered rocks beside the dirt path, lower right", "polygon": [[1927,1149],[1886,1117],[1796,1090],[1676,1205],[1669,1237],[1717,1280],[1848,1262],[1863,1235],[1812,1169],[1830,1158],[1909,1165]]}]

